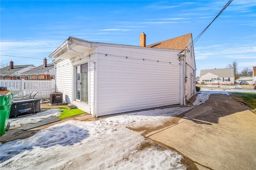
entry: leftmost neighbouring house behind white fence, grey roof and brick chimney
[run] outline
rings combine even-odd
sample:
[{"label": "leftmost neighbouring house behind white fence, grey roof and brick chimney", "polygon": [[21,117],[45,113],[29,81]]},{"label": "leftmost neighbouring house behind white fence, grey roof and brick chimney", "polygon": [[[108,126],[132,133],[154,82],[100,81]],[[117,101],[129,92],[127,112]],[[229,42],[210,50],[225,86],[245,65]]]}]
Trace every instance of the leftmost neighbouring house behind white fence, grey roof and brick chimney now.
[{"label": "leftmost neighbouring house behind white fence, grey roof and brick chimney", "polygon": [[1,80],[17,80],[21,79],[20,75],[25,71],[33,69],[35,66],[30,65],[14,65],[13,61],[10,61],[10,65],[0,69]]}]

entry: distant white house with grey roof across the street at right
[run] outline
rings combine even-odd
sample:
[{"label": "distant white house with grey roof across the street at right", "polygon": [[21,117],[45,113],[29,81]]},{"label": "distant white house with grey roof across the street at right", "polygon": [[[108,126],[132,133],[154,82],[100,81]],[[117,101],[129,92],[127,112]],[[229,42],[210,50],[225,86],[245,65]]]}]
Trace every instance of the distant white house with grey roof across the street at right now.
[{"label": "distant white house with grey roof across the street at right", "polygon": [[201,84],[234,85],[233,69],[209,69],[201,70]]}]

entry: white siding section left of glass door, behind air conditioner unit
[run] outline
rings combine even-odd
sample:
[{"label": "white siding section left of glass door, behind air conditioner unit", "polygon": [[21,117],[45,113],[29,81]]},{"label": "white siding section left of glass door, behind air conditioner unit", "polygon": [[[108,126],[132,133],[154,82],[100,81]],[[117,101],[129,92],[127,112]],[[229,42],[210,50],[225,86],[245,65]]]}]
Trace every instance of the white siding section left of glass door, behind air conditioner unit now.
[{"label": "white siding section left of glass door, behind air conditioner unit", "polygon": [[72,103],[72,64],[65,59],[58,61],[56,67],[56,90],[63,93],[64,101]]}]

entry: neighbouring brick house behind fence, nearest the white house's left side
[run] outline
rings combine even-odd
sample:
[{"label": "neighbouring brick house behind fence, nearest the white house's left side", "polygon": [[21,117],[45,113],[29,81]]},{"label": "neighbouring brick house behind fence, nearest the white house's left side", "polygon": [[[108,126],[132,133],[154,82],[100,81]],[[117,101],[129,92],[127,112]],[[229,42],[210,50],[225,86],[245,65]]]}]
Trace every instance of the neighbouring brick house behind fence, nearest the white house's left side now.
[{"label": "neighbouring brick house behind fence, nearest the white house's left side", "polygon": [[54,73],[54,64],[47,64],[47,59],[44,58],[43,65],[23,72],[20,77],[25,80],[52,80]]}]

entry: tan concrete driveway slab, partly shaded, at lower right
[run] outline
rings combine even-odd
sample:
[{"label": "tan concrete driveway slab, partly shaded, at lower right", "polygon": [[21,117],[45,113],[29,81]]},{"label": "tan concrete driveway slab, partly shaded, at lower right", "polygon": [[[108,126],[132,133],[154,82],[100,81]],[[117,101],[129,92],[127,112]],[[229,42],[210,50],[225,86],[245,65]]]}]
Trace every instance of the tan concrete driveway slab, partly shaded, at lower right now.
[{"label": "tan concrete driveway slab, partly shaded, at lower right", "polygon": [[178,124],[145,137],[192,160],[198,169],[256,167],[256,115],[228,95],[210,95]]}]

